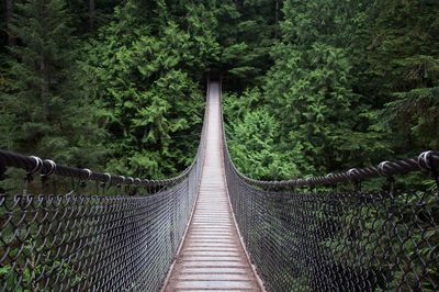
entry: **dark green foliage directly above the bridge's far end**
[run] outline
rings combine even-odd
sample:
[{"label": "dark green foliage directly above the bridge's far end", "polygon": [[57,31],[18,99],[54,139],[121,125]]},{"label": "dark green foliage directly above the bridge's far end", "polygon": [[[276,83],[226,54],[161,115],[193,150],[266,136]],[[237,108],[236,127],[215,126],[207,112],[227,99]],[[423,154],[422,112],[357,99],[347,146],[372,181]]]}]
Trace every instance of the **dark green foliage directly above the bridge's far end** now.
[{"label": "dark green foliage directly above the bridge's far end", "polygon": [[278,31],[279,1],[217,1],[215,16],[223,52],[217,66],[230,78],[230,88],[241,90],[260,83],[272,64],[270,48]]}]

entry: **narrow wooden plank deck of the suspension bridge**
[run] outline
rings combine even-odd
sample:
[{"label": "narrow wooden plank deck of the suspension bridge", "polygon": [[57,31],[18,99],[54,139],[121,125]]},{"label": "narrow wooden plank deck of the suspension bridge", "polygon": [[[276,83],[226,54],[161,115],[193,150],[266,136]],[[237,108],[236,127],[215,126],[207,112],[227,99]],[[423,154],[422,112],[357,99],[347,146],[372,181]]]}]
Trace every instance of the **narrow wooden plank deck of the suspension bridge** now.
[{"label": "narrow wooden plank deck of the suspension bridge", "polygon": [[218,83],[211,83],[207,98],[207,143],[200,194],[165,291],[261,291],[240,244],[226,193]]}]

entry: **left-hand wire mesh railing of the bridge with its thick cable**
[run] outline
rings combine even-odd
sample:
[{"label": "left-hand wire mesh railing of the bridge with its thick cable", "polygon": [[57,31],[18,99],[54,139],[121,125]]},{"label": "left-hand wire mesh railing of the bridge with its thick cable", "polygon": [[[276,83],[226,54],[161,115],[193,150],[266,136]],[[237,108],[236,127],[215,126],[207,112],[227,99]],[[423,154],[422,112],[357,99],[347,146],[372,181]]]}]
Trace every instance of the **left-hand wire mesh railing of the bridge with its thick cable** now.
[{"label": "left-hand wire mesh railing of the bridge with its thick cable", "polygon": [[98,173],[0,150],[0,169],[24,169],[27,181],[41,176],[44,186],[67,177],[76,186],[119,187],[114,195],[85,188],[61,194],[0,191],[0,290],[158,291],[190,220],[205,141],[204,124],[193,164],[166,180]]}]

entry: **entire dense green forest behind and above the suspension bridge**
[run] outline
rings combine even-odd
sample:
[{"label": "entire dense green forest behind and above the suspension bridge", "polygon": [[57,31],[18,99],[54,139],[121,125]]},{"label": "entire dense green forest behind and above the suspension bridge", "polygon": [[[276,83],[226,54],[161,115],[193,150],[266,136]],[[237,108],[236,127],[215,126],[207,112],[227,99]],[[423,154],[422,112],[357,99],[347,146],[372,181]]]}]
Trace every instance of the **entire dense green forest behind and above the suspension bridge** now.
[{"label": "entire dense green forest behind and above the suspension bridge", "polygon": [[3,149],[176,175],[211,68],[250,177],[439,148],[437,0],[2,0],[0,14]]}]

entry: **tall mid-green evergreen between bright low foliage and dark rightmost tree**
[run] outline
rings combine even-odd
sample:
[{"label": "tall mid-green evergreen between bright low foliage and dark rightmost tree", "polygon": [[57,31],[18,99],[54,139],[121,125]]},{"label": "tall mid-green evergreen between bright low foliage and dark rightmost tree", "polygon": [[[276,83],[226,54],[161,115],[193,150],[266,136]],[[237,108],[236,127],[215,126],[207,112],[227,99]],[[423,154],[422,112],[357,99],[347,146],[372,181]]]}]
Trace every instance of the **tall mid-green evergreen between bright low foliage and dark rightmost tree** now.
[{"label": "tall mid-green evergreen between bright low foliage and dark rightmost tree", "polygon": [[384,144],[354,92],[352,48],[338,36],[352,12],[327,0],[285,1],[283,12],[282,42],[272,49],[275,64],[264,85],[282,147],[300,146],[305,164],[319,173],[369,162],[364,156],[373,160]]}]

